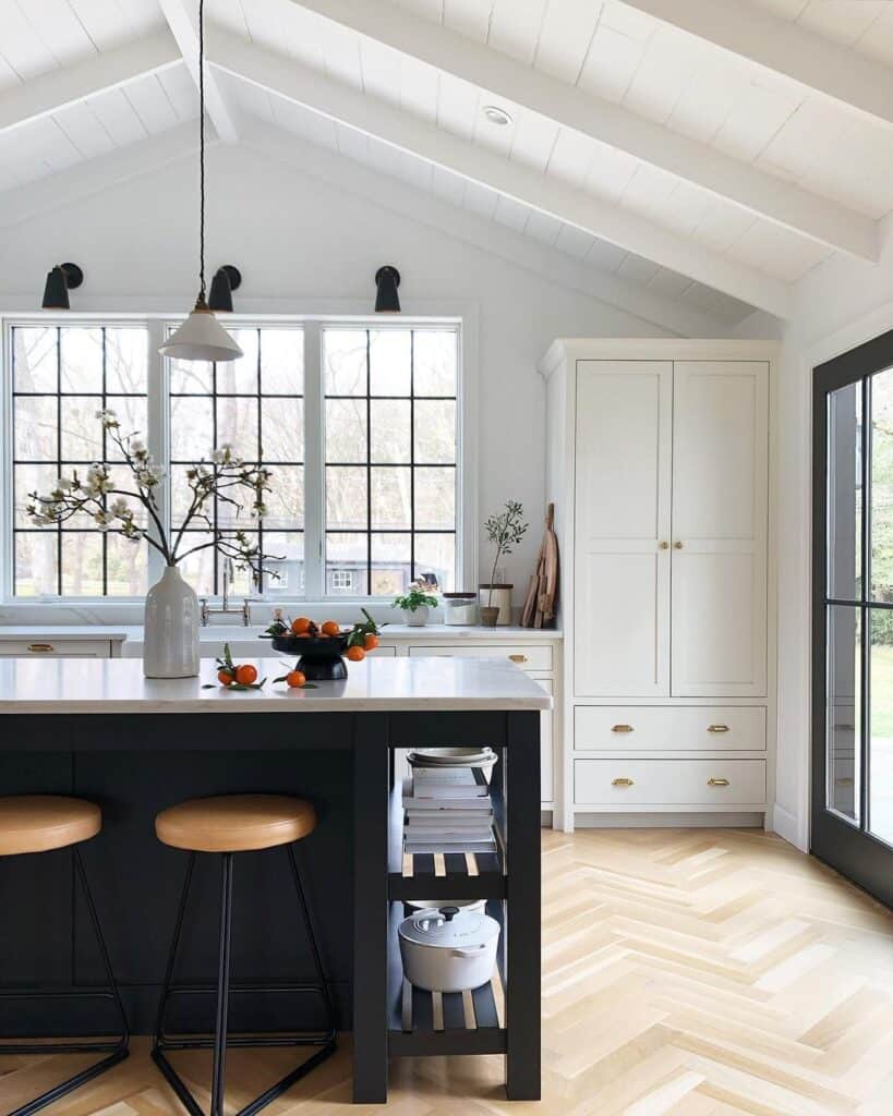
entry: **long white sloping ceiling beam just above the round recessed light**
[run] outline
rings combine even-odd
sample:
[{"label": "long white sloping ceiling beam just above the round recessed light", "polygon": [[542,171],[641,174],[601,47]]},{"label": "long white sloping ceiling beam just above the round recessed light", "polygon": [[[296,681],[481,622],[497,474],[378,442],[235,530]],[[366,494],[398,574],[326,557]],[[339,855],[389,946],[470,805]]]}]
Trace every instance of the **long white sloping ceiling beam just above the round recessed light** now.
[{"label": "long white sloping ceiling beam just above the round recessed light", "polygon": [[[874,221],[381,0],[291,0],[531,112],[624,151],[751,213],[875,262]],[[712,2],[712,0],[711,0]],[[640,7],[675,8],[643,2]],[[692,7],[681,2],[679,7]],[[709,4],[708,4],[709,6]],[[720,4],[721,7],[722,4]]]}]

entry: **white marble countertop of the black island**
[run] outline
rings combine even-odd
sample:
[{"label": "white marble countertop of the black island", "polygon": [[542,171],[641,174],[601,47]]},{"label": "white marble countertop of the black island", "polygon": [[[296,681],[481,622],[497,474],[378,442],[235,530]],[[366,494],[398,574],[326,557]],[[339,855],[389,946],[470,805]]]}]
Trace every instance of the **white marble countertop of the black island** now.
[{"label": "white marble countertop of the black island", "polygon": [[[289,690],[272,679],[285,656],[256,658],[262,690],[227,690],[203,658],[198,679],[143,677],[137,658],[0,660],[2,713],[356,713],[544,710],[551,698],[513,663],[484,658],[378,657],[348,663],[343,682]],[[211,689],[202,686],[214,683]]]}]

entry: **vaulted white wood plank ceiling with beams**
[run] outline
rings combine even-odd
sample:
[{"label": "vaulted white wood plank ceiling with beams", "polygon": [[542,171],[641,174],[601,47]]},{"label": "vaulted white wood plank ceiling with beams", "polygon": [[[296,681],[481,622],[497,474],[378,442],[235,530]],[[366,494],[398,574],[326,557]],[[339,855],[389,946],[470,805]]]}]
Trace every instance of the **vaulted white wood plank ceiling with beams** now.
[{"label": "vaulted white wood plank ceiling with beams", "polygon": [[[3,0],[0,192],[181,142],[195,8]],[[893,3],[205,0],[205,16],[224,142],[258,122],[299,135],[729,323],[784,315],[834,252],[877,259]]]}]

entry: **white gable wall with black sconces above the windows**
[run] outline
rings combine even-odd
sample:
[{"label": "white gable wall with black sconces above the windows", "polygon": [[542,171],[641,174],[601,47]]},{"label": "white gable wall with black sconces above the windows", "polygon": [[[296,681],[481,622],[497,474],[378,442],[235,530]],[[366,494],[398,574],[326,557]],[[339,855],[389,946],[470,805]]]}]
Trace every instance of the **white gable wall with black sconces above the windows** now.
[{"label": "white gable wall with black sconces above the windows", "polygon": [[[241,269],[239,309],[367,312],[375,270],[395,263],[404,310],[463,308],[477,318],[479,519],[507,499],[522,501],[531,528],[506,562],[522,597],[544,513],[538,358],[558,336],[651,337],[666,329],[244,148],[210,151],[208,181],[209,269]],[[65,186],[60,175],[60,195]],[[86,282],[71,296],[74,309],[182,312],[196,289],[195,163],[170,165],[0,237],[0,309],[36,309],[48,268],[75,260]],[[481,573],[489,573],[486,539],[480,547]]]}]

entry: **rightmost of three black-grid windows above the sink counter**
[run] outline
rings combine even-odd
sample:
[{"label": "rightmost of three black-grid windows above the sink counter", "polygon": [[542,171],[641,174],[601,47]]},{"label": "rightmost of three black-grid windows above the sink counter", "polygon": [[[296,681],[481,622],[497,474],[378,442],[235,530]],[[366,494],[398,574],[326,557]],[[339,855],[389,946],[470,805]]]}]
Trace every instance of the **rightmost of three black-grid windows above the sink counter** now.
[{"label": "rightmost of three black-grid windows above the sink counter", "polygon": [[323,330],[325,593],[453,588],[457,334]]}]

